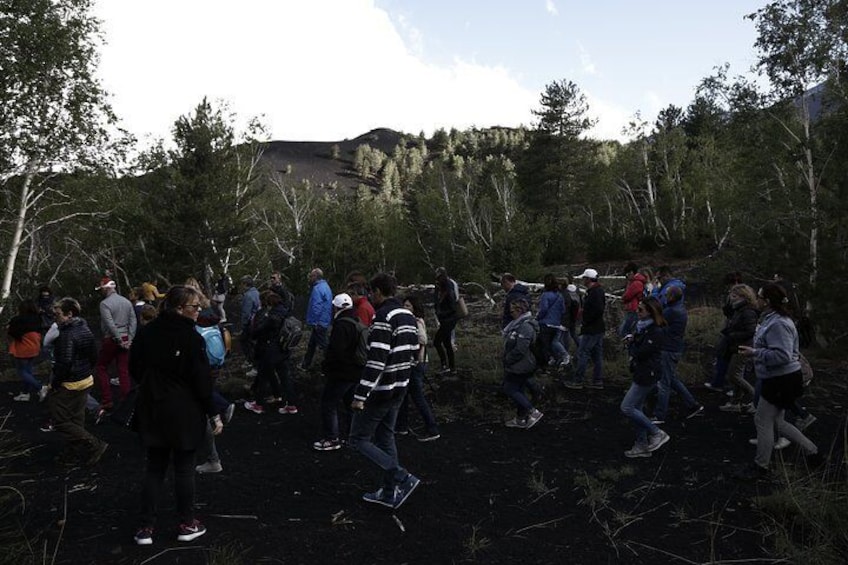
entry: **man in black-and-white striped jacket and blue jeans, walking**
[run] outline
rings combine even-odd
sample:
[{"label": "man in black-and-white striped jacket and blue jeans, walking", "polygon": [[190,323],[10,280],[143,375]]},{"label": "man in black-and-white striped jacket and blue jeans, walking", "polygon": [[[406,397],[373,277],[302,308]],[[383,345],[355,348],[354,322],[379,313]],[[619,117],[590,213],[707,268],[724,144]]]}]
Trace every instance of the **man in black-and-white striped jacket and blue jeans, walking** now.
[{"label": "man in black-and-white striped jacket and blue jeans, walking", "polygon": [[353,395],[350,447],[382,470],[382,486],[362,500],[399,508],[420,483],[400,466],[395,420],[418,353],[418,326],[395,298],[397,281],[380,273],[371,281],[377,312],[368,336],[368,362]]}]

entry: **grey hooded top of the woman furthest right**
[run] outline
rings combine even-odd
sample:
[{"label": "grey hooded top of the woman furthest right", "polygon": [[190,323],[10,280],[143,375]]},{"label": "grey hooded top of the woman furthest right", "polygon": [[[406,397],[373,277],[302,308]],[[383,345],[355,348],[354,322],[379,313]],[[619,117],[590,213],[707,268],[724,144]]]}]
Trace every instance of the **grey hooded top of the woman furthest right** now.
[{"label": "grey hooded top of the woman furthest right", "polygon": [[758,379],[788,375],[801,370],[798,331],[788,316],[766,312],[754,332],[754,371]]}]

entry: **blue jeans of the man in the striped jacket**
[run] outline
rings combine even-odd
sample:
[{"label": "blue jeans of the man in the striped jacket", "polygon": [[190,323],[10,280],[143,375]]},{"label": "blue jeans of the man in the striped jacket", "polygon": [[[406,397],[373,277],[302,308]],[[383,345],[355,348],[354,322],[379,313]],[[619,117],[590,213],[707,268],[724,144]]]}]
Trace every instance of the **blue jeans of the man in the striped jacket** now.
[{"label": "blue jeans of the man in the striped jacket", "polygon": [[362,410],[353,414],[350,424],[350,447],[381,470],[382,487],[388,490],[409,475],[398,462],[395,445],[395,421],[403,396],[379,401],[369,399]]}]

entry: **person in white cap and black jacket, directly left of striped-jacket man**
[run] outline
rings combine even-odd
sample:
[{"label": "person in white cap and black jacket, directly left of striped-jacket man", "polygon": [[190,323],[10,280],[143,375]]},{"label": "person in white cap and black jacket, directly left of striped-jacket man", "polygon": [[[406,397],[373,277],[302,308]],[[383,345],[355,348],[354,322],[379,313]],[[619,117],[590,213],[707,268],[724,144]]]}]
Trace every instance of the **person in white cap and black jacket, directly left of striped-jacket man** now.
[{"label": "person in white cap and black jacket, directly left of striped-jacket man", "polygon": [[[312,444],[316,451],[334,451],[342,446],[339,441],[338,405],[340,401],[350,405],[353,387],[362,375],[364,365],[356,360],[361,327],[364,326],[356,316],[350,295],[341,293],[333,297],[332,330],[321,367],[327,376],[321,394],[322,439]],[[350,428],[350,413],[346,412],[345,416]]]}]

